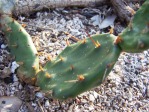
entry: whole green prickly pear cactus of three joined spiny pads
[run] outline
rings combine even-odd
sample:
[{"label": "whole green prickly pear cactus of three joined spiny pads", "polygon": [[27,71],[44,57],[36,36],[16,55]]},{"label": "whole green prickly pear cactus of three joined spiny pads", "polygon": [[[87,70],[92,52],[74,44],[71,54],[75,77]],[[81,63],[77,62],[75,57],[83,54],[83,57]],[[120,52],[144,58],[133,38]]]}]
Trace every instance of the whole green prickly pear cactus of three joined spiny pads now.
[{"label": "whole green prickly pear cactus of three joined spiny pads", "polygon": [[11,54],[20,65],[17,70],[20,80],[39,86],[50,97],[67,99],[100,85],[122,51],[138,53],[149,48],[148,7],[146,0],[118,36],[99,34],[69,45],[42,69],[38,52],[24,28],[3,13],[0,26]]}]

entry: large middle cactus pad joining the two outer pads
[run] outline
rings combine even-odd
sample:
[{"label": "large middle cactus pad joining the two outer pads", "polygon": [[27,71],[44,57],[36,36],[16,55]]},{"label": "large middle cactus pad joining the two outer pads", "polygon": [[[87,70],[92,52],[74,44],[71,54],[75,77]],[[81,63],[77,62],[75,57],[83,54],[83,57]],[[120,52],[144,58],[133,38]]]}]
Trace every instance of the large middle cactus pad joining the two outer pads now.
[{"label": "large middle cactus pad joining the two outer pads", "polygon": [[97,48],[90,39],[66,47],[37,74],[37,85],[58,99],[73,98],[98,86],[120,55],[115,38],[112,34],[93,36],[92,39],[101,44]]}]

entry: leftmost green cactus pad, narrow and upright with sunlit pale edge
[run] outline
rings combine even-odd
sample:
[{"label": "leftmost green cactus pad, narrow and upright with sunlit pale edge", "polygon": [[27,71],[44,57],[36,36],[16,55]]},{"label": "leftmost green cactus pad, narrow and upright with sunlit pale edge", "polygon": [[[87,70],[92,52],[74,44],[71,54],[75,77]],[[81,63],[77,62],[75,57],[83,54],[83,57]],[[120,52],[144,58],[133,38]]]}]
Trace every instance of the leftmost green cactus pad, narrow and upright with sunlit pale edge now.
[{"label": "leftmost green cactus pad, narrow and upright with sunlit pale edge", "polygon": [[17,21],[7,15],[0,17],[0,23],[11,54],[20,65],[17,70],[20,80],[35,83],[35,75],[39,71],[39,60],[31,37]]}]

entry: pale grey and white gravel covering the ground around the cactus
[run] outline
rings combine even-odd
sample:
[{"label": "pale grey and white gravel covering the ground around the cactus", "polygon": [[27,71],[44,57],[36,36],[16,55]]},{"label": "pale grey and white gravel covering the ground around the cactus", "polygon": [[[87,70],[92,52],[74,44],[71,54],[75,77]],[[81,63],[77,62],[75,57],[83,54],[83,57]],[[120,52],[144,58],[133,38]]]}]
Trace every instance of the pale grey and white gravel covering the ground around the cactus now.
[{"label": "pale grey and white gravel covering the ground around the cactus", "polygon": [[[104,20],[112,13],[113,9],[108,6],[56,8],[37,12],[30,18],[20,16],[18,21],[27,25],[26,30],[40,52],[40,63],[44,65],[49,56],[56,57],[67,46],[67,39],[70,43],[76,42],[72,36],[81,40],[87,37],[86,32],[91,35],[108,32],[110,26],[100,29],[91,18],[100,15]],[[116,18],[114,33],[117,35],[124,28]],[[18,112],[149,111],[149,50],[138,54],[123,52],[103,84],[75,99],[59,101],[47,98],[38,87],[20,83],[16,74],[19,66],[10,56],[5,41],[0,35],[0,97],[17,96],[23,102]]]}]

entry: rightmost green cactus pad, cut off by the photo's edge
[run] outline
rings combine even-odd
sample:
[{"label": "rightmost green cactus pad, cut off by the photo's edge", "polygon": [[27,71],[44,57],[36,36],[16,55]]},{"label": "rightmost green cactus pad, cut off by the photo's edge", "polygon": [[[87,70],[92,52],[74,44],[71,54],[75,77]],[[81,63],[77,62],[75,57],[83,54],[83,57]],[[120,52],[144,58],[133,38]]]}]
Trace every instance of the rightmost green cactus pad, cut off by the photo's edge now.
[{"label": "rightmost green cactus pad, cut off by the photo's edge", "polygon": [[137,53],[149,49],[149,0],[137,11],[119,38],[119,45],[123,51]]}]

